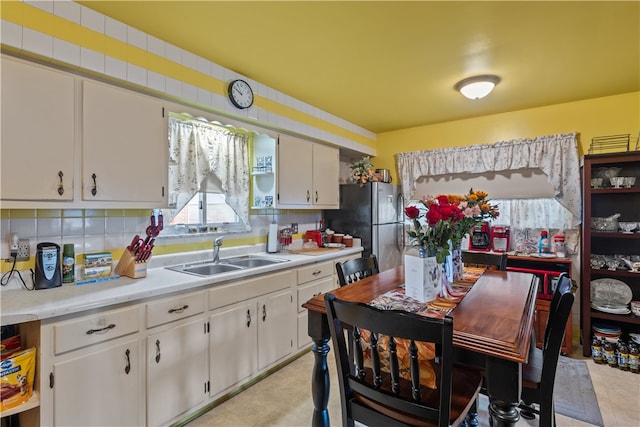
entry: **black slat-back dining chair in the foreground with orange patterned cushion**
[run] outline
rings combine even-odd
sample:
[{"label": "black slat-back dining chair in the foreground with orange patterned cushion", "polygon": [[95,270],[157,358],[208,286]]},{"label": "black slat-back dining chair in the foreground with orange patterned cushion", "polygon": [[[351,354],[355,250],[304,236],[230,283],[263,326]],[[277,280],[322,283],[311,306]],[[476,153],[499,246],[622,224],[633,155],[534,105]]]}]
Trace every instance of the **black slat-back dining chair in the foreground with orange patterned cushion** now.
[{"label": "black slat-back dining chair in the foreground with orange patterned cushion", "polygon": [[[336,349],[343,426],[351,427],[356,420],[370,426],[445,427],[464,422],[478,396],[482,373],[453,364],[451,317],[379,310],[330,293],[325,305]],[[366,334],[368,341],[362,338]],[[434,352],[427,355],[424,345]],[[436,388],[421,382],[425,363],[433,367],[435,377],[423,378],[435,378]]]}]

